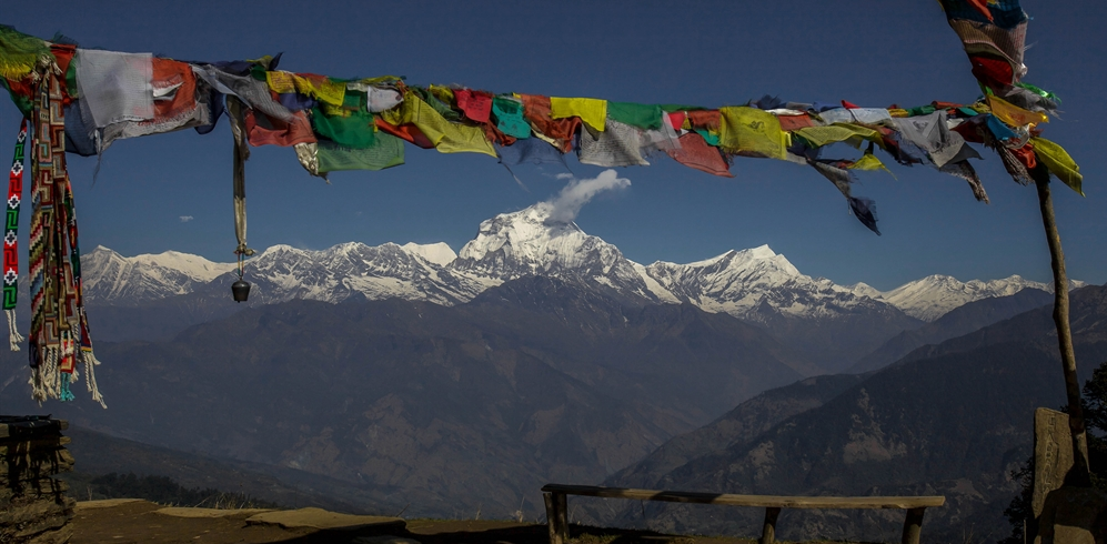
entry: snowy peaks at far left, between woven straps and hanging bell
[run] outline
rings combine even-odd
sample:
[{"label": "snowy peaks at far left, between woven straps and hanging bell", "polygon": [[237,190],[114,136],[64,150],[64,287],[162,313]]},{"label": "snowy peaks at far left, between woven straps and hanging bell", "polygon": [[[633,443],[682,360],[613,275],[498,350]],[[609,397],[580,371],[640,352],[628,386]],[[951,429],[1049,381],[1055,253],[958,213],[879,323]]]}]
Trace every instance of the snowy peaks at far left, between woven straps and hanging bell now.
[{"label": "snowy peaks at far left, between woven straps and hanging bell", "polygon": [[102,245],[82,255],[81,266],[85,300],[115,305],[191,293],[234,270],[234,263],[215,263],[177,251],[122,256]]}]

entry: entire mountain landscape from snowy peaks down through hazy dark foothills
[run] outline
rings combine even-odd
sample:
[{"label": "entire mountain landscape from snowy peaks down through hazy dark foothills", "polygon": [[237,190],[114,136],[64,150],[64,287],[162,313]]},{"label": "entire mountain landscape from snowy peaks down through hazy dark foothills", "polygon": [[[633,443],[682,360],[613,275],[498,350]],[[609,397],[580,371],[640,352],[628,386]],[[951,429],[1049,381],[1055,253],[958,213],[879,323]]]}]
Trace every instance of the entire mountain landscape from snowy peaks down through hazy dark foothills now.
[{"label": "entire mountain landscape from snowy peaks down through hazy dark foothills", "polygon": [[[456,254],[445,244],[270,248],[246,265],[248,304],[230,300],[231,264],[97,248],[83,265],[110,410],[80,393],[48,410],[274,477],[299,471],[324,494],[326,482],[343,482],[334,496],[371,512],[534,517],[542,484],[610,478],[735,493],[967,493],[935,525],[997,525],[1010,491],[1000,476],[1029,444],[1023,404],[1056,404],[1030,391],[1048,382],[1051,363],[1028,371],[1034,383],[994,375],[1031,364],[1004,357],[1048,356],[1040,323],[1007,329],[1049,302],[1046,285],[929,276],[880,293],[807,276],[767,246],[642,265],[550,218],[543,204],[499,215]],[[1096,310],[1079,308],[1094,323]],[[1046,341],[940,347],[985,326],[987,342]],[[10,385],[0,391],[6,409],[32,413],[17,389],[24,355],[0,353]],[[1000,412],[982,407],[989,419],[963,426],[997,437],[950,434],[943,423],[968,394],[946,386],[950,376],[1024,387],[1023,404],[984,387]],[[772,451],[757,450],[766,441]],[[976,447],[992,450],[979,457]],[[731,470],[722,466],[738,475],[719,476]],[[824,477],[834,473],[856,473],[857,483]],[[660,526],[741,532],[693,511],[651,512]],[[587,515],[641,521],[618,510]],[[866,523],[877,522],[805,518],[794,534],[863,534],[874,528]]]}]

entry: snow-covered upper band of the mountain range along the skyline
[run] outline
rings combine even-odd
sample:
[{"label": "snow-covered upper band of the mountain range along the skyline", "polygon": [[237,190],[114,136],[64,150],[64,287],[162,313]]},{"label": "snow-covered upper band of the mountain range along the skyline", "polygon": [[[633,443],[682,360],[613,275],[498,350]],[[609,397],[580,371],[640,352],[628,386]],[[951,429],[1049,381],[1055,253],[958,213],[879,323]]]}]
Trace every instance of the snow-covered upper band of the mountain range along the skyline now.
[{"label": "snow-covered upper band of the mountain range along the skyline", "polygon": [[[805,275],[768,245],[685,264],[641,264],[576,223],[550,221],[550,204],[542,202],[483,221],[456,253],[442,242],[346,242],[324,250],[278,244],[246,261],[245,274],[254,284],[252,301],[261,303],[298,298],[339,302],[361,293],[371,300],[395,296],[454,305],[507,280],[550,275],[581,279],[645,302],[688,302],[752,321],[764,321],[761,316],[769,308],[783,316],[834,319],[858,305],[888,304],[932,322],[975,300],[1051,289],[1018,275],[960,282],[935,274],[882,292],[865,283],[838,285]],[[125,258],[103,246],[82,261],[85,298],[107,305],[202,291],[237,270],[234,263],[174,251]]]}]

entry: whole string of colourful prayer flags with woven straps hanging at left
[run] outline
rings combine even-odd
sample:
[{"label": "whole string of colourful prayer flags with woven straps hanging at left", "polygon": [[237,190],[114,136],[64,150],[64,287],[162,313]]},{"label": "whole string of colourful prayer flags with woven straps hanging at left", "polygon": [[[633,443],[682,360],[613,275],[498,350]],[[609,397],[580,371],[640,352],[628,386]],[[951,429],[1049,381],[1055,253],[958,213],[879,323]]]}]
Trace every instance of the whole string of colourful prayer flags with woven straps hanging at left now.
[{"label": "whole string of colourful prayer flags with woven straps hanging at left", "polygon": [[[0,28],[0,75],[30,124],[33,216],[30,240],[33,397],[69,400],[76,366],[100,400],[81,298],[80,252],[66,152],[103,153],[119,139],[193,128],[205,134],[225,112],[234,138],[234,209],[240,260],[245,240],[244,161],[249,145],[294,148],[312,175],[380,170],[404,162],[404,142],[443,153],[472,152],[502,164],[580,162],[647,165],[666,154],[715,175],[731,177],[734,157],[787,161],[815,169],[846,198],[865,226],[879,233],[872,200],[852,194],[854,171],[887,170],[875,154],[900,164],[930,164],[966,180],[987,202],[968,159],[968,143],[999,154],[1022,183],[1051,173],[1080,192],[1079,169],[1056,143],[1040,138],[1058,99],[1020,81],[1028,18],[1017,0],[940,0],[980,82],[968,103],[861,108],[786,102],[763,97],[746,105],[705,108],[638,104],[595,98],[492,93],[459,85],[406,84],[402,78],[336,79],[278,70],[280,56],[184,62],[150,53],[80,49]],[[21,131],[9,185],[4,238],[4,309],[16,304],[17,233],[22,189]],[[845,142],[854,158],[822,157]],[[1083,193],[1081,193],[1083,194]],[[9,312],[9,320],[12,314]],[[22,340],[10,325],[12,349]],[[101,400],[102,402],[102,400]]]}]

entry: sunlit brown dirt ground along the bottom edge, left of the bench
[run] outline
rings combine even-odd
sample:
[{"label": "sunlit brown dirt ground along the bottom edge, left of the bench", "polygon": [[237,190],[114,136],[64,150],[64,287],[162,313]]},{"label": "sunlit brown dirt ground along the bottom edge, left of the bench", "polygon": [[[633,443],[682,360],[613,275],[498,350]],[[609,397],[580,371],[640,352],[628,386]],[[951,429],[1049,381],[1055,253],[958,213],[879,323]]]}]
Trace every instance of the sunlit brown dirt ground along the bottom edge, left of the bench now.
[{"label": "sunlit brown dirt ground along the bottom edge, left of the bench", "polygon": [[[545,525],[502,521],[409,520],[406,528],[282,528],[246,524],[255,512],[219,517],[178,517],[158,513],[145,501],[105,507],[78,507],[71,544],[90,543],[350,543],[350,544],[546,544]],[[384,535],[397,537],[384,538]],[[754,544],[756,540],[672,536],[640,531],[572,527],[577,544]],[[811,543],[815,544],[815,543]]]}]

